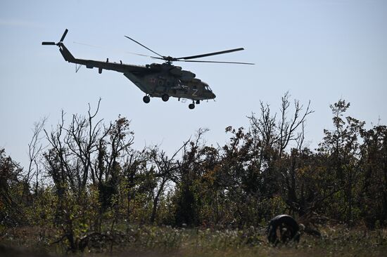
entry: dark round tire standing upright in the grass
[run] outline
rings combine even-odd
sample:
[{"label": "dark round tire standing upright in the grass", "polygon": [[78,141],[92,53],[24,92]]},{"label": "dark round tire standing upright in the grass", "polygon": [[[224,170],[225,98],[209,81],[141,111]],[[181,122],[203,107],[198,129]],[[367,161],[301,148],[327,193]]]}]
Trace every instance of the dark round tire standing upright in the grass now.
[{"label": "dark round tire standing upright in the grass", "polygon": [[270,220],[267,228],[267,240],[277,245],[279,242],[286,244],[290,241],[300,241],[300,227],[296,220],[286,214],[275,216]]}]

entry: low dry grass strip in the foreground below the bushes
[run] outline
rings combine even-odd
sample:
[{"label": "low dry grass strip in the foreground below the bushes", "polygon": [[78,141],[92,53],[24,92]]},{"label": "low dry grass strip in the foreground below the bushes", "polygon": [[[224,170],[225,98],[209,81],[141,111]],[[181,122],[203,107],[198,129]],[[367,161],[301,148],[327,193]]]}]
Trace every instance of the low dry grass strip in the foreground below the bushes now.
[{"label": "low dry grass strip in the foreground below the bushes", "polygon": [[[184,229],[138,226],[116,231],[115,242],[91,242],[77,256],[386,256],[387,230],[319,228],[321,238],[302,235],[298,244],[273,247],[265,230]],[[0,256],[62,256],[64,244],[51,244],[53,230],[15,228],[3,231]],[[113,241],[112,241],[113,242]]]}]

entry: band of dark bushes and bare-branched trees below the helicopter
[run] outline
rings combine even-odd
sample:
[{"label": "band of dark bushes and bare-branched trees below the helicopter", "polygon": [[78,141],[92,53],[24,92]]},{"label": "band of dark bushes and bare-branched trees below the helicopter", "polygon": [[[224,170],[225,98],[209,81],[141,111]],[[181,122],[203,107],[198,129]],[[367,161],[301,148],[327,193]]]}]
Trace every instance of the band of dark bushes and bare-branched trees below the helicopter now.
[{"label": "band of dark bushes and bare-branched trees below the helicopter", "polygon": [[310,231],[324,224],[385,228],[387,127],[366,129],[345,117],[350,104],[338,100],[333,129],[311,150],[303,142],[313,111],[289,98],[281,98],[278,116],[260,103],[248,129],[227,127],[223,146],[207,145],[207,130],[199,129],[172,153],[134,150],[129,120],[103,124],[99,105],[69,121],[63,112],[51,131],[44,119],[35,124],[28,169],[0,150],[1,235],[30,226],[43,246],[76,253],[117,245],[177,251],[190,242],[203,249],[258,246],[264,240],[256,228],[279,213]]}]

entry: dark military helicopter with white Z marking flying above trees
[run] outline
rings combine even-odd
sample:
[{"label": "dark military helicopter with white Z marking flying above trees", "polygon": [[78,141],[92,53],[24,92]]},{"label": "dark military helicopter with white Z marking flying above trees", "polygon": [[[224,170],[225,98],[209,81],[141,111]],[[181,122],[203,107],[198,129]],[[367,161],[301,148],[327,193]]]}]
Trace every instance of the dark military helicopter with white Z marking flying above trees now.
[{"label": "dark military helicopter with white Z marking flying above trees", "polygon": [[254,65],[254,63],[249,62],[219,62],[211,60],[191,60],[196,58],[202,58],[210,55],[220,55],[223,53],[231,53],[235,51],[244,50],[243,48],[235,48],[226,51],[214,52],[214,53],[205,53],[201,55],[191,55],[185,57],[174,58],[171,56],[164,56],[156,53],[150,48],[140,44],[138,41],[127,37],[139,44],[140,46],[148,49],[152,53],[158,56],[148,56],[154,59],[164,60],[162,64],[152,63],[150,65],[139,66],[139,65],[127,65],[117,62],[109,62],[109,59],[106,62],[98,60],[84,60],[75,58],[68,48],[63,44],[63,40],[68,33],[68,29],[65,29],[61,40],[58,43],[55,42],[42,42],[42,45],[54,45],[59,47],[59,51],[63,55],[63,58],[68,62],[75,63],[79,65],[76,67],[76,71],[84,65],[89,69],[94,67],[98,68],[99,74],[102,73],[102,70],[115,70],[116,72],[121,72],[127,77],[130,81],[133,82],[138,88],[145,93],[143,98],[144,103],[149,103],[151,97],[161,98],[164,102],[170,99],[170,97],[175,97],[180,99],[189,99],[192,100],[192,103],[189,104],[189,109],[195,108],[195,103],[201,103],[201,100],[215,99],[215,94],[212,93],[210,86],[201,79],[196,79],[196,74],[189,72],[188,70],[182,70],[182,67],[172,65],[172,62],[215,62],[215,63],[234,63],[234,64],[243,64],[243,65]]}]

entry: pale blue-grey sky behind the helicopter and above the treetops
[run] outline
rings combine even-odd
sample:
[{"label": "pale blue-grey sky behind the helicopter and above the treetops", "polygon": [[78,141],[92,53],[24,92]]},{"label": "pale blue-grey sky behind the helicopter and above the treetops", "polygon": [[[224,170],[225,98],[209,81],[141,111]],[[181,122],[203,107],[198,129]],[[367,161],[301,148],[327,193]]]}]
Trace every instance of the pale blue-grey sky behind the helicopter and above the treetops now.
[{"label": "pale blue-grey sky behind the helicopter and above the treetops", "polygon": [[[102,98],[99,118],[132,120],[136,147],[177,149],[199,128],[209,144],[223,145],[226,126],[248,127],[246,116],[259,101],[278,111],[281,95],[315,113],[307,118],[311,147],[331,129],[329,105],[351,103],[348,114],[372,124],[387,122],[387,1],[0,1],[0,147],[22,164],[35,121],[58,123],[61,110],[86,114]],[[142,93],[118,72],[89,70],[65,62],[56,46],[64,41],[77,58],[145,65],[154,60],[124,37],[163,55],[184,56],[244,47],[245,51],[203,58],[257,65],[179,63],[217,95],[197,105]],[[99,47],[75,44],[81,42]],[[380,121],[379,121],[380,120]]]}]

